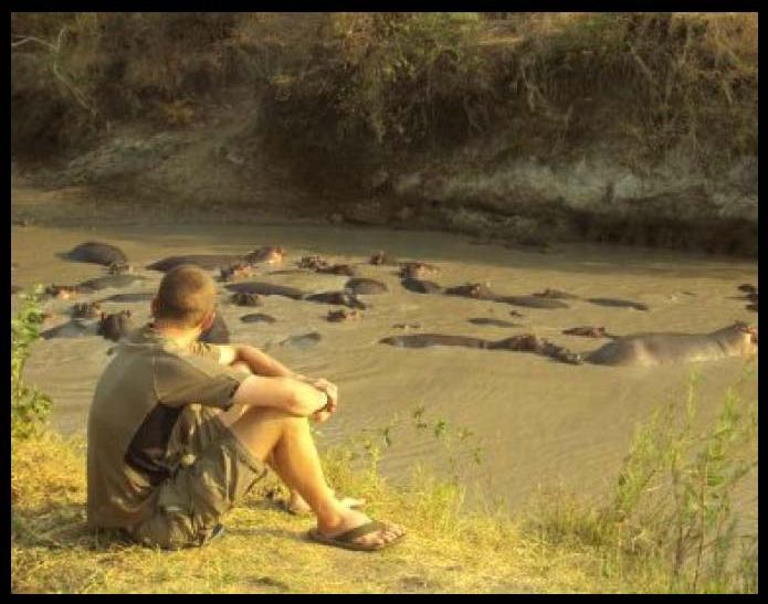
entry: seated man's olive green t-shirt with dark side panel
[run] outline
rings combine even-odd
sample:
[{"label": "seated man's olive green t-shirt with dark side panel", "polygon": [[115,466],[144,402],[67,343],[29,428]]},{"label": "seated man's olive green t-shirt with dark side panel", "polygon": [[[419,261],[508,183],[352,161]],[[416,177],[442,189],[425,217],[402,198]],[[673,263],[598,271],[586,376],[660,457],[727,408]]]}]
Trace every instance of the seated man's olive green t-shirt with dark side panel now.
[{"label": "seated man's olive green t-shirt with dark side panel", "polygon": [[244,374],[218,362],[219,348],[186,349],[150,325],[117,348],[88,413],[88,524],[129,528],[154,511],[158,485],[178,459],[169,441],[185,405],[227,410]]}]

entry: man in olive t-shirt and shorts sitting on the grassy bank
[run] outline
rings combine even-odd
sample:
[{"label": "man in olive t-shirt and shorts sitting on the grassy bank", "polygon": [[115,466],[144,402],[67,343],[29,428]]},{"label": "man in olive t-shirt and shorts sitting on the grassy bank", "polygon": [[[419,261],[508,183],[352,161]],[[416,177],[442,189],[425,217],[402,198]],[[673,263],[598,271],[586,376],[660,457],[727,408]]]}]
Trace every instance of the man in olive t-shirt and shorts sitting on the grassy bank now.
[{"label": "man in olive t-shirt and shorts sitting on the grassy bank", "polygon": [[124,341],[88,414],[88,524],[146,545],[201,545],[269,464],[317,517],[316,541],[378,550],[404,531],[371,521],[326,484],[308,420],[338,394],[254,347],[198,341],[214,319],[215,286],[182,265],[152,300],[154,322]]}]

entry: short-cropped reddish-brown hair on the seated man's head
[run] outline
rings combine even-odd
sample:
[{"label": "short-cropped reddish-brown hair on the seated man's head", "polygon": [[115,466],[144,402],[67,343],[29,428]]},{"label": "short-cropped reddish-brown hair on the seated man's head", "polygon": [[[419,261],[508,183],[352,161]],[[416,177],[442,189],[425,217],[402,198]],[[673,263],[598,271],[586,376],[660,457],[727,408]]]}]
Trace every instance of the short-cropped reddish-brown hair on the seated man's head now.
[{"label": "short-cropped reddish-brown hair on the seated man's head", "polygon": [[215,285],[201,268],[182,264],[168,271],[154,305],[156,319],[194,327],[215,309]]}]

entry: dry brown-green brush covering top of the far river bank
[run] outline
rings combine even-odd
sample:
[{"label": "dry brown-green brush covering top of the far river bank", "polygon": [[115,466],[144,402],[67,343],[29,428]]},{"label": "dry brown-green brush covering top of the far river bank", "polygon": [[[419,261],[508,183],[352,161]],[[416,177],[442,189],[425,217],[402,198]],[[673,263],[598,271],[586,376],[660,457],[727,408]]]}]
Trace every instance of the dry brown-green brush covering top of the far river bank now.
[{"label": "dry brown-green brush covering top of the far river bank", "polygon": [[499,134],[544,161],[757,152],[756,13],[14,13],[11,33],[20,151],[194,125],[240,91],[263,103],[244,129],[318,161]]}]

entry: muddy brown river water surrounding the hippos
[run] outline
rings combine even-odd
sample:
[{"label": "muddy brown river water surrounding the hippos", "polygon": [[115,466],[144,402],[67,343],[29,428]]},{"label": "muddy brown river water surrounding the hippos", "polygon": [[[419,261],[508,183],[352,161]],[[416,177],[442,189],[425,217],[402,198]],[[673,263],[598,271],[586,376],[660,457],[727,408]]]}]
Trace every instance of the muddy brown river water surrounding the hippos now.
[{"label": "muddy brown river water surrounding the hippos", "polygon": [[[436,232],[313,225],[145,225],[93,229],[12,227],[12,282],[70,284],[102,276],[97,265],[67,262],[56,254],[88,240],[118,245],[129,262],[145,267],[176,254],[245,253],[262,245],[282,245],[288,258],[281,266],[261,266],[253,280],[302,288],[308,293],[339,289],[348,277],[295,268],[302,255],[320,254],[332,263],[354,264],[361,277],[382,280],[389,293],[361,297],[370,303],[360,320],[330,322],[330,308],[280,296],[264,297],[260,311],[276,321],[242,322],[251,310],[229,303],[221,287],[219,311],[233,341],[262,347],[306,374],[325,377],[340,390],[337,416],[319,426],[325,443],[336,443],[364,428],[387,426],[391,446],[381,469],[397,481],[417,464],[450,469],[451,447],[435,438],[440,420],[465,427],[474,436],[463,451],[480,446],[483,462],[466,463],[463,479],[473,494],[490,494],[513,508],[538,485],[564,484],[581,492],[604,492],[616,481],[632,433],[652,409],[682,400],[693,369],[701,373],[702,418],[712,414],[726,389],[743,377],[745,360],[725,359],[695,365],[612,368],[567,365],[529,353],[455,347],[402,349],[378,343],[404,332],[442,332],[499,339],[534,331],[576,351],[608,340],[565,336],[581,325],[604,326],[625,335],[640,331],[705,332],[734,320],[757,322],[736,287],[756,283],[755,262],[678,252],[595,245],[564,245],[540,254],[495,245],[473,245],[467,237]],[[650,310],[604,307],[568,300],[569,308],[517,308],[506,304],[453,296],[420,295],[399,284],[396,266],[367,264],[383,250],[398,259],[428,262],[440,268],[430,279],[442,286],[487,283],[501,295],[527,295],[547,287],[581,298],[621,298],[644,303]],[[140,269],[147,282],[124,289],[105,289],[78,301],[101,300],[117,293],[151,292],[160,273]],[[15,296],[12,297],[15,300]],[[12,308],[15,307],[12,301]],[[46,307],[64,312],[73,301],[53,300]],[[148,319],[148,303],[104,303],[106,310],[131,308]],[[517,310],[523,316],[511,315]],[[513,320],[519,327],[475,325],[486,317]],[[407,331],[396,324],[415,325]],[[296,339],[317,332],[315,338]],[[291,346],[291,342],[302,342]],[[285,342],[285,343],[282,343]],[[98,337],[52,339],[34,345],[27,378],[54,400],[53,426],[63,433],[84,433],[94,385],[114,346]],[[756,373],[739,385],[757,396]],[[411,426],[422,406],[429,430]],[[745,496],[747,497],[747,496]],[[753,501],[749,495],[747,501]],[[748,507],[751,510],[753,504]],[[751,511],[750,511],[751,513]],[[756,508],[754,511],[756,518]]]}]

